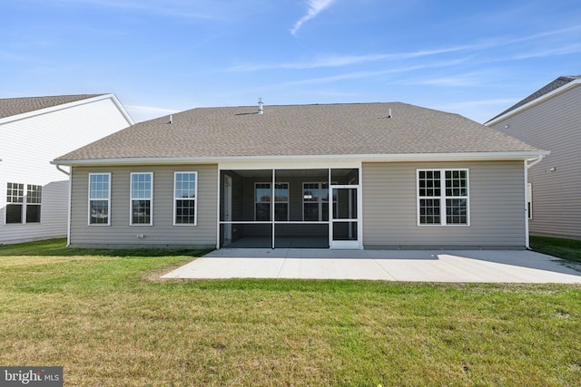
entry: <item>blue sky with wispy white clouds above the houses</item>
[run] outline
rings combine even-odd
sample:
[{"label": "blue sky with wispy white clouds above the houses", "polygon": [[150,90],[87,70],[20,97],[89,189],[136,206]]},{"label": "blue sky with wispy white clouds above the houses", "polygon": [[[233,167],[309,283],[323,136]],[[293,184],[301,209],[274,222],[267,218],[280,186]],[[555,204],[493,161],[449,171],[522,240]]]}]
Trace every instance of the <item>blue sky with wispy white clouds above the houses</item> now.
[{"label": "blue sky with wispy white clouds above the houses", "polygon": [[484,122],[581,74],[579,0],[13,0],[0,98],[201,106],[407,102]]}]

